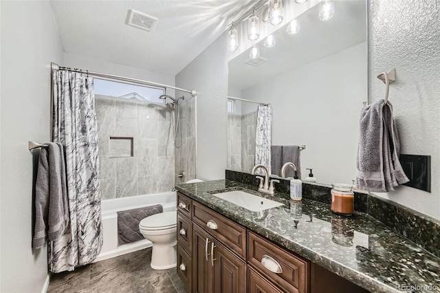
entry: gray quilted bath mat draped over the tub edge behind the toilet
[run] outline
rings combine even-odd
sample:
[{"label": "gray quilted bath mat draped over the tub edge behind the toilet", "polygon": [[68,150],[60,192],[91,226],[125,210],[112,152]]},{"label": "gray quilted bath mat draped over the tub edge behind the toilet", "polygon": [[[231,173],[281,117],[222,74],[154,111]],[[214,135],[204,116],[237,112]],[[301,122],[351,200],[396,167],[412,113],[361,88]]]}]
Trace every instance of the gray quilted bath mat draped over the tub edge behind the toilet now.
[{"label": "gray quilted bath mat draped over the tub edge behind the toilet", "polygon": [[118,243],[119,245],[131,243],[144,239],[139,223],[146,217],[162,213],[164,208],[160,204],[146,206],[144,208],[133,208],[118,212]]}]

